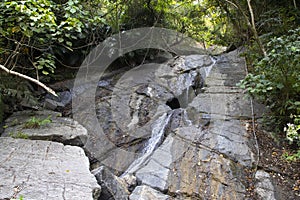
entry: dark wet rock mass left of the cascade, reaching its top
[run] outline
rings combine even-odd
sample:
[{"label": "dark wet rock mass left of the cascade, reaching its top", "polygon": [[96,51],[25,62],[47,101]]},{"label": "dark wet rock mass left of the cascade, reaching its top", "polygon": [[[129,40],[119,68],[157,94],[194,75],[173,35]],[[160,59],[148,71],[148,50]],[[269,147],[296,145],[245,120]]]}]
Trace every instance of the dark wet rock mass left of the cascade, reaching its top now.
[{"label": "dark wet rock mass left of the cascade, reaching its top", "polygon": [[188,106],[213,64],[208,55],[145,64],[113,78],[110,83],[114,87],[97,87],[96,97],[91,88],[75,98],[73,117],[89,132],[85,148],[100,162],[95,166],[105,165],[122,173],[140,156],[158,127],[163,130],[154,146],[169,129],[189,124],[183,119],[185,111],[172,110]]}]

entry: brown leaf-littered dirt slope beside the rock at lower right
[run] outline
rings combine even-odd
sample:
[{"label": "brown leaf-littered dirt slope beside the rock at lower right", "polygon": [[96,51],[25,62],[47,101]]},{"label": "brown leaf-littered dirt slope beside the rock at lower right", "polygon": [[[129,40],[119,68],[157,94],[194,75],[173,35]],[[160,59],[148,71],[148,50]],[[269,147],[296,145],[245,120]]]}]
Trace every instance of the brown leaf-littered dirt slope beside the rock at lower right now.
[{"label": "brown leaf-littered dirt slope beside the rock at lower right", "polygon": [[[252,124],[251,121],[245,121]],[[253,127],[248,126],[249,134],[253,135]],[[247,169],[249,199],[259,199],[255,194],[254,174],[257,170],[268,172],[276,191],[276,199],[300,200],[300,161],[287,161],[286,153],[295,152],[295,146],[289,145],[285,135],[277,135],[276,140],[270,132],[264,131],[261,126],[255,125],[255,132],[258,141],[260,157],[258,166],[255,169]],[[277,142],[276,142],[277,141]]]}]

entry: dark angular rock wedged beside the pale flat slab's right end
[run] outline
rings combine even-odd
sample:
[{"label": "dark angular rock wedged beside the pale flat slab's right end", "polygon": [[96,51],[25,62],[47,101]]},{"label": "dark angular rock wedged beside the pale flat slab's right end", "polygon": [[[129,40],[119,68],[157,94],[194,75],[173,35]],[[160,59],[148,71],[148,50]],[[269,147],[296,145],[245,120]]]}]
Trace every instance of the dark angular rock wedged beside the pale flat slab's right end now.
[{"label": "dark angular rock wedged beside the pale flat slab's right end", "polygon": [[102,188],[99,200],[128,199],[129,191],[126,188],[126,183],[112,174],[107,168],[102,166],[98,169],[94,169],[92,173]]}]

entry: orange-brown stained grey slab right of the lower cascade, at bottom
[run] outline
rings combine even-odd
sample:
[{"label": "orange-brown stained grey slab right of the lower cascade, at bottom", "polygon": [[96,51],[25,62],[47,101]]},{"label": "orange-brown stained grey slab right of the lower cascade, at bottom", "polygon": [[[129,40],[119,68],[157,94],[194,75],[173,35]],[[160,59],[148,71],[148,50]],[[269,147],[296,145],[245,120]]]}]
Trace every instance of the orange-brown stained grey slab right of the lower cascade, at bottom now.
[{"label": "orange-brown stained grey slab right of the lower cascade, at bottom", "polygon": [[243,199],[245,187],[237,178],[241,166],[202,143],[194,143],[201,138],[199,129],[183,129],[168,136],[146,166],[136,172],[138,180],[178,196]]}]

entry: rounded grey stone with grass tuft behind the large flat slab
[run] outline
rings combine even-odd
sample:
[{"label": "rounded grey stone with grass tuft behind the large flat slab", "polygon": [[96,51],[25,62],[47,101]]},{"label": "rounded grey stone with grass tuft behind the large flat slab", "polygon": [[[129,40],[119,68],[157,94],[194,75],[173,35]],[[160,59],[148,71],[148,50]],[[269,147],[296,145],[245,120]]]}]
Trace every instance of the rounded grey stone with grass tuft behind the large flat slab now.
[{"label": "rounded grey stone with grass tuft behind the large flat slab", "polygon": [[[39,121],[34,123],[35,121]],[[50,119],[51,122],[43,123]],[[60,113],[52,111],[20,111],[14,113],[6,120],[2,136],[24,137],[33,140],[49,140],[61,142],[66,145],[83,146],[87,140],[87,130],[78,122],[70,118],[60,117]]]}]

